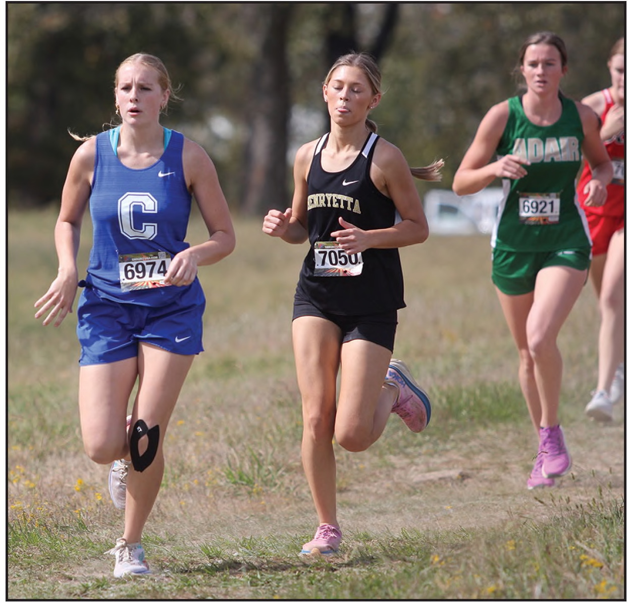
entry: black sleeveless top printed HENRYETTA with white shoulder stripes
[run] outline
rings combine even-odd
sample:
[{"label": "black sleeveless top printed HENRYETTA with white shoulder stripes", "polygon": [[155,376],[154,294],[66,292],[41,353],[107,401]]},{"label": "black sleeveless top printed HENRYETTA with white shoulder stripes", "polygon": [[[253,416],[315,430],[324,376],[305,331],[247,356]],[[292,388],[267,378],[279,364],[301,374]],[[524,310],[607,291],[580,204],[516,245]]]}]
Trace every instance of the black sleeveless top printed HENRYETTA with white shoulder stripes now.
[{"label": "black sleeveless top printed HENRYETTA with white shoulder stripes", "polygon": [[371,180],[378,138],[371,134],[354,162],[343,171],[328,172],[321,166],[328,134],[318,141],[314,152],[307,179],[310,251],[303,260],[297,292],[324,312],[363,315],[406,305],[398,249],[367,249],[359,260],[329,243],[323,244],[335,241],[331,233],[342,230],[340,216],[366,231],[395,224],[393,200],[377,190]]}]

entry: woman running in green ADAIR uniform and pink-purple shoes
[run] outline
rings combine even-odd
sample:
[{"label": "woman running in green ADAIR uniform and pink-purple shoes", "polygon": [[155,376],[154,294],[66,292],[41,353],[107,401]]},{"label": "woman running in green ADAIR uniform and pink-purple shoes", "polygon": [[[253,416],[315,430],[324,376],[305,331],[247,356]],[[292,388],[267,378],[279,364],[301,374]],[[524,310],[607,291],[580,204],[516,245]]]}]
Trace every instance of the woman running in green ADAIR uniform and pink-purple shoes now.
[{"label": "woman running in green ADAIR uniform and pink-purple shoes", "polygon": [[538,434],[528,479],[533,489],[553,486],[571,467],[558,421],[562,359],[556,340],[587,279],[591,254],[575,179],[585,156],[592,167],[585,204],[602,205],[613,172],[597,116],[560,92],[567,70],[563,40],[547,31],[529,36],[517,70],[525,91],[487,112],[453,190],[468,195],[502,179],[492,280],[519,350],[519,382]]}]

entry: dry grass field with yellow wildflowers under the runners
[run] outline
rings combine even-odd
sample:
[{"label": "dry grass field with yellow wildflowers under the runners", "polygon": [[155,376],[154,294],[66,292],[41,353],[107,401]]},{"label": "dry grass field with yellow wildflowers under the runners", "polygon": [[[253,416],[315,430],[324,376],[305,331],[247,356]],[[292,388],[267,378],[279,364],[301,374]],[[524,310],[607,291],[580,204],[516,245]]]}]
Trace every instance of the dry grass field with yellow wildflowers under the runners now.
[{"label": "dry grass field with yellow wildflowers under the runners", "polygon": [[[143,540],[153,575],[114,579],[103,553],[123,518],[108,467],[82,450],[75,315],[59,329],[33,318],[57,271],[55,219],[8,216],[9,599],[624,599],[623,403],[609,426],[583,414],[597,365],[592,288],[560,337],[573,468],[529,492],[536,442],[486,237],[403,249],[395,356],[430,393],[432,421],[414,435],[393,416],[367,452],[338,448],[341,554],[298,555],[317,525],[290,339],[305,247],[246,220],[232,256],[200,273],[205,352],[166,436]],[[189,239],[202,237],[197,220]]]}]

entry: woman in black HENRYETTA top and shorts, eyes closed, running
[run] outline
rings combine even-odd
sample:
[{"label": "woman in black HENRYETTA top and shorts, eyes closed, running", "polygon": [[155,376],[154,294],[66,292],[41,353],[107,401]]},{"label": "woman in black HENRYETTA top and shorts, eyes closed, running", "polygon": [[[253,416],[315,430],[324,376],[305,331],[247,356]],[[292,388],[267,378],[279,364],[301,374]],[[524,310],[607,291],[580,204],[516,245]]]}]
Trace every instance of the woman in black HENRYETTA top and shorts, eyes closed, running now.
[{"label": "woman in black HENRYETTA top and shorts, eyes closed, running", "polygon": [[369,55],[340,57],[323,97],[331,130],[298,150],[292,207],[271,210],[263,225],[284,241],[310,241],[293,313],[301,457],[319,523],[305,555],[335,553],[342,539],[334,435],[360,452],[381,436],[391,411],[413,432],[430,420],[428,397],[391,355],[397,310],[405,306],[398,247],[428,236],[412,176],[439,180],[442,165],[411,169],[398,148],[377,136],[367,116],[381,100],[381,75]]}]

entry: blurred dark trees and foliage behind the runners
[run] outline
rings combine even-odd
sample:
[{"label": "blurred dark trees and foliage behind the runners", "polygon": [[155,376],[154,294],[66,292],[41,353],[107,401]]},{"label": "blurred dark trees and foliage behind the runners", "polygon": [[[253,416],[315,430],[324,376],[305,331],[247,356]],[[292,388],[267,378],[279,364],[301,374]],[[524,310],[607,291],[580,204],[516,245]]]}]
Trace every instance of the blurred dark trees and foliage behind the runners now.
[{"label": "blurred dark trees and foliage behind the runners", "polygon": [[290,204],[296,148],[328,127],[322,80],[350,50],[382,68],[379,133],[411,165],[444,157],[448,188],[484,113],[516,94],[519,47],[539,30],[565,40],[563,90],[580,99],[610,84],[625,3],[8,3],[8,205],[58,204],[68,129],[109,127],[114,72],[136,52],[181,86],[162,123],[207,149],[233,212]]}]

